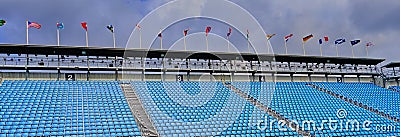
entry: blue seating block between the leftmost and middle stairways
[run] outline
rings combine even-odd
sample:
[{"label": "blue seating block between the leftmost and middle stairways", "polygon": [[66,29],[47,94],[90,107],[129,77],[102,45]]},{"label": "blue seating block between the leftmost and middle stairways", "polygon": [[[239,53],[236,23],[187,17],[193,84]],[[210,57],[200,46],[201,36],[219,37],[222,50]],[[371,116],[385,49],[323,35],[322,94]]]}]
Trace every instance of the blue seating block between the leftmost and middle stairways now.
[{"label": "blue seating block between the leftmost and middle stairways", "polygon": [[161,136],[298,136],[220,82],[132,82]]}]

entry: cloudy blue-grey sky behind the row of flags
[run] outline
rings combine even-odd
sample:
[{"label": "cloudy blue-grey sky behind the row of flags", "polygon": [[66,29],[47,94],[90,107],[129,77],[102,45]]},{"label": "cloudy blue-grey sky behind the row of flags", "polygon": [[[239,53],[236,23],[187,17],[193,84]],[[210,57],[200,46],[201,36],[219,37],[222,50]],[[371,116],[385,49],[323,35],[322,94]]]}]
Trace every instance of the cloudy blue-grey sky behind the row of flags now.
[{"label": "cloudy blue-grey sky behind the row of flags", "polygon": [[[206,0],[207,1],[207,0]],[[308,55],[319,55],[318,39],[329,37],[329,42],[323,44],[323,54],[336,56],[333,41],[345,38],[347,41],[361,39],[361,43],[354,47],[356,57],[367,57],[365,44],[372,42],[375,46],[369,48],[369,57],[386,58],[388,61],[399,61],[400,45],[400,1],[399,0],[231,0],[244,10],[247,10],[260,27],[267,34],[276,33],[270,42],[274,53],[284,54],[283,37],[293,33],[288,41],[289,54],[303,54],[301,38],[313,34],[314,38],[305,43]],[[115,26],[117,47],[125,48],[129,38],[136,36],[132,33],[135,24],[146,15],[157,10],[158,7],[171,3],[167,0],[2,0],[0,5],[0,19],[7,21],[0,27],[0,43],[24,44],[26,29],[25,20],[35,21],[42,25],[40,30],[31,28],[29,37],[31,44],[56,45],[56,22],[61,21],[65,29],[61,30],[61,45],[85,45],[85,33],[80,22],[86,21],[89,27],[90,46],[112,47],[112,35],[105,26]],[[177,10],[159,14],[158,22],[187,13],[221,13],[226,4],[211,5],[198,0],[191,4],[181,4]],[[229,8],[228,8],[229,10]],[[207,13],[206,13],[207,12]],[[243,18],[242,23],[250,22],[236,13],[229,15],[232,19]],[[235,16],[236,15],[236,16]],[[227,15],[228,16],[228,15]],[[162,18],[161,18],[162,17]],[[166,21],[165,21],[166,22]],[[187,37],[188,50],[204,50],[199,48],[199,41],[204,41],[205,26],[212,26],[210,39],[211,50],[227,51],[222,45],[229,27],[234,27],[231,42],[239,51],[247,51],[247,44],[243,34],[246,30],[236,28],[235,24],[220,22],[207,18],[188,18],[157,26],[150,22],[142,24],[148,28],[163,29],[163,47],[173,48],[182,43],[182,30],[190,28]],[[254,28],[250,26],[248,28]],[[158,24],[159,25],[159,24]],[[142,33],[154,33],[145,31]],[[157,33],[157,32],[155,32]],[[132,35],[131,35],[132,34]],[[250,39],[252,37],[250,32]],[[157,34],[153,37],[152,48],[159,48]],[[243,42],[244,41],[244,42]],[[176,45],[174,45],[174,43]],[[177,44],[178,43],[178,44]],[[198,44],[198,45],[197,45]],[[224,42],[224,45],[225,42]],[[139,48],[134,45],[131,48]],[[173,49],[182,50],[181,46]],[[350,43],[339,46],[340,56],[352,56]]]}]

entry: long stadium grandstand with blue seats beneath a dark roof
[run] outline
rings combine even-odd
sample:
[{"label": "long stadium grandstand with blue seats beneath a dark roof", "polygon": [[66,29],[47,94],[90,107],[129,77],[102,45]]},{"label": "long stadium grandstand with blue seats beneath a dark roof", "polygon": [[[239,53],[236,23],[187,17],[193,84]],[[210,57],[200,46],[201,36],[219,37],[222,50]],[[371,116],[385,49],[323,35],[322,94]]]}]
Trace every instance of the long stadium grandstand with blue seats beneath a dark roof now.
[{"label": "long stadium grandstand with blue seats beneath a dark roof", "polygon": [[385,59],[0,45],[0,136],[399,136]]}]

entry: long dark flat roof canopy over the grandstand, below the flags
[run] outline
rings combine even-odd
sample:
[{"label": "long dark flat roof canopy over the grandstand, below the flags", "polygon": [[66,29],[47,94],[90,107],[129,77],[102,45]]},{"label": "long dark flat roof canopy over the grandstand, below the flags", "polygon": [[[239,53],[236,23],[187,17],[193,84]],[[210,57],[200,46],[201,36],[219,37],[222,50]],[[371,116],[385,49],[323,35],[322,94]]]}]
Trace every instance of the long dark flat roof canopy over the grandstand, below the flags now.
[{"label": "long dark flat roof canopy over the grandstand, below the flags", "polygon": [[[16,45],[0,44],[3,54],[37,54],[37,55],[71,55],[71,56],[119,56],[147,58],[178,58],[178,59],[211,59],[211,60],[246,60],[246,61],[276,61],[302,63],[333,63],[377,65],[385,59],[325,57],[280,54],[228,53],[204,51],[171,51],[156,49],[124,49],[78,46],[46,46],[46,45]],[[388,64],[389,65],[389,64]],[[386,67],[390,67],[390,65]],[[397,63],[400,66],[400,63]]]}]

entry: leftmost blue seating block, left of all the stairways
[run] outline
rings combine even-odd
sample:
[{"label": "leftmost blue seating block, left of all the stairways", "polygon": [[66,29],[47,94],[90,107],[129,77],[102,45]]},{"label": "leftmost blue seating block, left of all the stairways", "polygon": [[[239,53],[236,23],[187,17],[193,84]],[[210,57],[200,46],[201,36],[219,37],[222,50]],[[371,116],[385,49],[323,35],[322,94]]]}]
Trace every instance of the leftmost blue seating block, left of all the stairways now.
[{"label": "leftmost blue seating block, left of all the stairways", "polygon": [[118,82],[4,81],[1,136],[140,136]]}]

